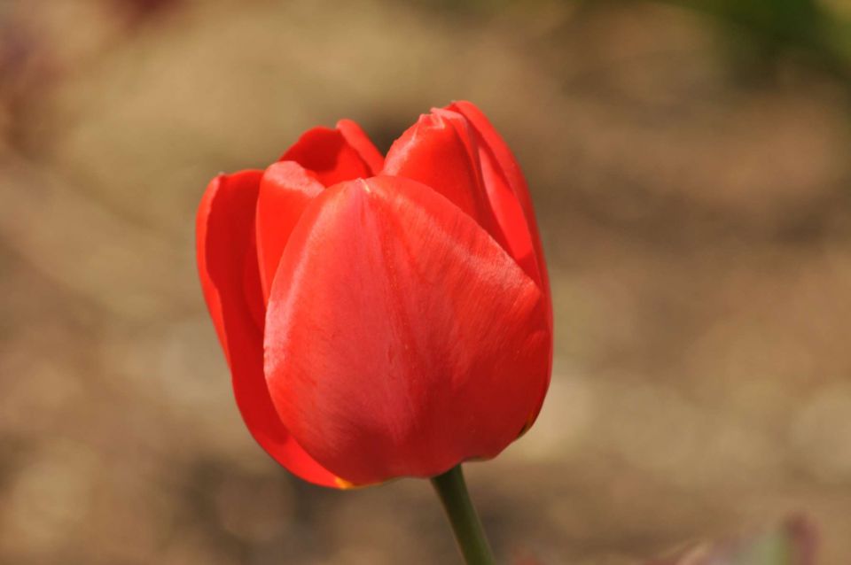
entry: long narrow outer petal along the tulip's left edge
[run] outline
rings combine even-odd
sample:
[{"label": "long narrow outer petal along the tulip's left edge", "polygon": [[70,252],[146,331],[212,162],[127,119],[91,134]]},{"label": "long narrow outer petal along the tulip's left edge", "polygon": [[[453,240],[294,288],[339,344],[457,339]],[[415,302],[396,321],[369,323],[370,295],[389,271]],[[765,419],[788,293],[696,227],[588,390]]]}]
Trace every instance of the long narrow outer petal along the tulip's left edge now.
[{"label": "long narrow outer petal along the tulip's left edge", "polygon": [[[196,223],[198,269],[204,298],[230,365],[239,411],[257,442],[295,475],[336,486],[335,477],[301,448],[277,417],[263,379],[262,330],[249,300],[257,283],[254,207],[262,171],[220,175],[210,182]],[[252,272],[253,276],[250,276]],[[254,297],[254,298],[253,298]],[[262,303],[260,305],[262,307]]]}]

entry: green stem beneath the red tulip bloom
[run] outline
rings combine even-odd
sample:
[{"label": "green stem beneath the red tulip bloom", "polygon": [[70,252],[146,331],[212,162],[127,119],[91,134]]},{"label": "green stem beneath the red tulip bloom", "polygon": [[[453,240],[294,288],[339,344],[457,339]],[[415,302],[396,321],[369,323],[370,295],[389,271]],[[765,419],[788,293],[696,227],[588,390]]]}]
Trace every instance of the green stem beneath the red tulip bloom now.
[{"label": "green stem beneath the red tulip bloom", "polygon": [[479,515],[472,506],[461,466],[457,465],[442,475],[433,476],[432,484],[441,497],[443,509],[449,516],[458,548],[464,554],[467,565],[494,565],[494,553],[488,545],[485,530],[481,528]]}]

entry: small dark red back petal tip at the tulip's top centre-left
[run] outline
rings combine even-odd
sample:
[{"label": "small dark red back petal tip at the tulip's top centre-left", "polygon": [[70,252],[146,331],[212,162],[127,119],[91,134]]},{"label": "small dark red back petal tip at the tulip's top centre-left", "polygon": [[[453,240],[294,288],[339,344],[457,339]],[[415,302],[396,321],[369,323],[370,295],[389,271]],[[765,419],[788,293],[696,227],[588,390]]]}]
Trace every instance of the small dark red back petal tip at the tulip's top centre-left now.
[{"label": "small dark red back petal tip at the tulip's top centre-left", "polygon": [[[375,174],[371,166],[375,156],[368,150],[367,143],[371,145],[371,142],[366,134],[349,120],[345,122],[343,130],[345,133],[339,128],[308,129],[279,160],[295,161],[308,169],[324,186]],[[354,146],[349,143],[349,139],[355,143]],[[375,149],[374,146],[372,149]]]}]

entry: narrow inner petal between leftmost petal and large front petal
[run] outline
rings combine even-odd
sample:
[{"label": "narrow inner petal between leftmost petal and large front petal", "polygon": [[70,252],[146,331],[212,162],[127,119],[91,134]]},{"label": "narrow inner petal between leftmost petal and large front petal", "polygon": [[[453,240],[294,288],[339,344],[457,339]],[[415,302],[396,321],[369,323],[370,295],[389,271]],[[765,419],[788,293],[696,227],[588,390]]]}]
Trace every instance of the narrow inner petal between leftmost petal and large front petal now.
[{"label": "narrow inner petal between leftmost petal and large front petal", "polygon": [[304,207],[322,190],[322,184],[294,161],[279,161],[263,174],[257,198],[256,231],[264,302],[269,300],[272,278],[290,233]]}]

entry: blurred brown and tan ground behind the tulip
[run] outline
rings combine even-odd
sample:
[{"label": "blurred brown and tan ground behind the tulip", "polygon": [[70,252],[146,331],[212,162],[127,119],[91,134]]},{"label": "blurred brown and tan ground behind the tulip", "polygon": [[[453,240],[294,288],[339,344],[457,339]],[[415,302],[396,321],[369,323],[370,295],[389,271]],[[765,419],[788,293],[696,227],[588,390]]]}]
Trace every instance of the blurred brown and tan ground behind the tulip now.
[{"label": "blurred brown and tan ground behind the tulip", "polygon": [[851,2],[0,0],[0,562],[459,562],[426,481],[254,444],[195,207],[316,124],[456,98],[530,181],[555,370],[467,466],[506,562],[816,523],[851,559]]}]

